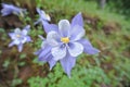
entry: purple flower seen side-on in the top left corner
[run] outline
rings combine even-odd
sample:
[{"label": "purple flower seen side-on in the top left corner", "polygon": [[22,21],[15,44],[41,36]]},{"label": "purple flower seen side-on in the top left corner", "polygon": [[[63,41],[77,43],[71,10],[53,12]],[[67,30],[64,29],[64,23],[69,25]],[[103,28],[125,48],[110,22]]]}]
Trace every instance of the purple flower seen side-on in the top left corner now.
[{"label": "purple flower seen side-on in the top left corner", "polygon": [[3,8],[1,10],[2,16],[6,16],[6,15],[10,15],[12,13],[16,14],[16,15],[24,16],[24,13],[26,12],[26,9],[21,9],[21,8],[14,7],[13,4],[2,3],[2,8]]}]

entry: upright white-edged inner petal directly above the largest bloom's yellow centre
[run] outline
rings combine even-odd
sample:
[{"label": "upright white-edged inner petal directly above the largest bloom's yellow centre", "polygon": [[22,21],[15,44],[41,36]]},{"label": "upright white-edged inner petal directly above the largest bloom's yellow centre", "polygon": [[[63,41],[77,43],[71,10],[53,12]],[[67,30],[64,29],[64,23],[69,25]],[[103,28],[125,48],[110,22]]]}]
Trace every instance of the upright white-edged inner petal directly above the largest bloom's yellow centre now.
[{"label": "upright white-edged inner petal directly above the largest bloom's yellow centre", "polygon": [[61,20],[58,22],[58,30],[63,37],[68,37],[70,30],[70,24],[67,20]]}]

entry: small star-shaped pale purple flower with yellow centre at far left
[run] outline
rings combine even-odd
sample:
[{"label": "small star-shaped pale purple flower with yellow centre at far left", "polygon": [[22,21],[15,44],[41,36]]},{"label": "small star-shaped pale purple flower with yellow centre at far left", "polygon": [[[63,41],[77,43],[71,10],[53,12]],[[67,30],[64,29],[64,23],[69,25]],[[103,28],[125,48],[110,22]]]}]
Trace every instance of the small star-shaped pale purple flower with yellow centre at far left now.
[{"label": "small star-shaped pale purple flower with yellow centre at far left", "polygon": [[30,26],[27,25],[26,27],[24,27],[23,30],[21,30],[20,28],[16,28],[14,30],[14,33],[9,33],[9,36],[11,37],[11,39],[13,40],[9,47],[12,47],[14,45],[17,46],[18,51],[21,52],[23,50],[23,45],[25,42],[29,42],[31,41],[30,37],[27,35],[28,30],[29,30]]}]

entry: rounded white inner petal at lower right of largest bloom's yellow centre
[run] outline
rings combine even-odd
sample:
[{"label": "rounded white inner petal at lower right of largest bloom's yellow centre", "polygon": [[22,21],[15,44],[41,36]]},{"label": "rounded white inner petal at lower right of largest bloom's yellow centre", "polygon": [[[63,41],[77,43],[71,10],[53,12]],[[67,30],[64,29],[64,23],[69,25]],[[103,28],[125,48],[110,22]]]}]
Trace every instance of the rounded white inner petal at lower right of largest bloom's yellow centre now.
[{"label": "rounded white inner petal at lower right of largest bloom's yellow centre", "polygon": [[83,52],[83,46],[79,42],[69,42],[68,52],[70,53],[72,57],[78,57]]}]

